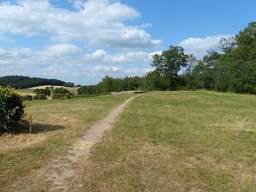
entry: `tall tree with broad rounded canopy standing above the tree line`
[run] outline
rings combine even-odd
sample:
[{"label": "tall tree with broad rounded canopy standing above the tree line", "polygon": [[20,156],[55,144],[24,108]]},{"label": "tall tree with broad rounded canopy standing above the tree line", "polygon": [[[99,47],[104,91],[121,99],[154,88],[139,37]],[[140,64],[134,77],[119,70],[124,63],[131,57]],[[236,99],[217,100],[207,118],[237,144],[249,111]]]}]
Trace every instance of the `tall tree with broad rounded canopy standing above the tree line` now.
[{"label": "tall tree with broad rounded canopy standing above the tree line", "polygon": [[181,67],[186,67],[189,56],[184,54],[184,49],[180,46],[170,46],[170,49],[163,51],[161,55],[153,56],[152,67],[156,67],[159,74],[169,80],[170,90],[177,90],[178,72]]}]

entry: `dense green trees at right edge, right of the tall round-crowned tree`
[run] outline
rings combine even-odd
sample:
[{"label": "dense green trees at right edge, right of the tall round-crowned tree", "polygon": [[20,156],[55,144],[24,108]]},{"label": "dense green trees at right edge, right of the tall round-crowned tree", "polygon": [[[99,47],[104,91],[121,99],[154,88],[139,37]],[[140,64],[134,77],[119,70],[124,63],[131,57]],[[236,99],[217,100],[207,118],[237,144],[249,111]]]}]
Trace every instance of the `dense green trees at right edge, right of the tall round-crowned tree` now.
[{"label": "dense green trees at right edge, right of the tall round-crowned tree", "polygon": [[256,22],[235,37],[221,39],[219,48],[222,52],[208,51],[193,68],[196,88],[256,94]]}]

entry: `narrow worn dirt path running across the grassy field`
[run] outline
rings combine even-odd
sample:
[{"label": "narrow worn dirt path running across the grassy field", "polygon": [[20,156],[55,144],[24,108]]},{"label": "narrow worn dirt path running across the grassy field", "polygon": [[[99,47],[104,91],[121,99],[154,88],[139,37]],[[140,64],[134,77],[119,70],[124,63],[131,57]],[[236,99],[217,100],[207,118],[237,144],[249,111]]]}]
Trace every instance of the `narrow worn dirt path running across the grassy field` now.
[{"label": "narrow worn dirt path running across the grassy field", "polygon": [[[65,185],[66,179],[74,180],[78,178],[76,171],[72,168],[72,163],[76,163],[82,158],[83,161],[88,158],[92,146],[102,139],[104,131],[111,127],[111,124],[115,122],[116,116],[122,112],[124,107],[132,99],[134,99],[134,97],[126,100],[123,104],[113,109],[108,116],[100,120],[100,122],[92,125],[92,127],[86,131],[83,138],[77,140],[72,145],[72,149],[68,151],[65,161],[63,161],[62,158],[56,159],[56,161],[52,163],[52,172],[45,175],[49,180],[54,182],[54,188],[52,188],[51,191],[74,191],[74,189],[69,189],[68,186]],[[79,187],[79,184],[77,187]]]}]

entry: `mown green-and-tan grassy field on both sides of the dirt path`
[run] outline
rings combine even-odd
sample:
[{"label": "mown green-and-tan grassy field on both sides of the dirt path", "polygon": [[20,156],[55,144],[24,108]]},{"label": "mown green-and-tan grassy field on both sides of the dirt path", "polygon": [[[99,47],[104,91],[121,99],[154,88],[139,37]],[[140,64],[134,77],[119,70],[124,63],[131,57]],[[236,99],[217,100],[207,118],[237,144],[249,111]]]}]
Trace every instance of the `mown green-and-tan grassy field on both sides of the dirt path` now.
[{"label": "mown green-and-tan grassy field on both sides of the dirt path", "polygon": [[[0,191],[51,191],[28,179],[131,95],[28,102],[36,134],[0,137]],[[87,161],[74,191],[255,191],[256,97],[150,92],[136,97]],[[79,188],[77,188],[79,184]]]}]

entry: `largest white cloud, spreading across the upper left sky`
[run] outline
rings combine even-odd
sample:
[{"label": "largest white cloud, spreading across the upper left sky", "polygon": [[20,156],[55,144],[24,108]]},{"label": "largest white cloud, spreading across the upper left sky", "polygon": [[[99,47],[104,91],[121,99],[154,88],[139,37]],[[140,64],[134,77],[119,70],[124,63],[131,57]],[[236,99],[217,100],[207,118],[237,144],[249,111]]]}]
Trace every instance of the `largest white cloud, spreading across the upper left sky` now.
[{"label": "largest white cloud, spreading across the upper left sky", "polygon": [[124,48],[163,45],[162,40],[153,40],[140,27],[124,25],[124,21],[141,16],[126,4],[89,0],[74,1],[74,7],[76,11],[56,8],[49,0],[0,3],[0,34],[48,34],[56,42],[81,40],[93,45]]}]

